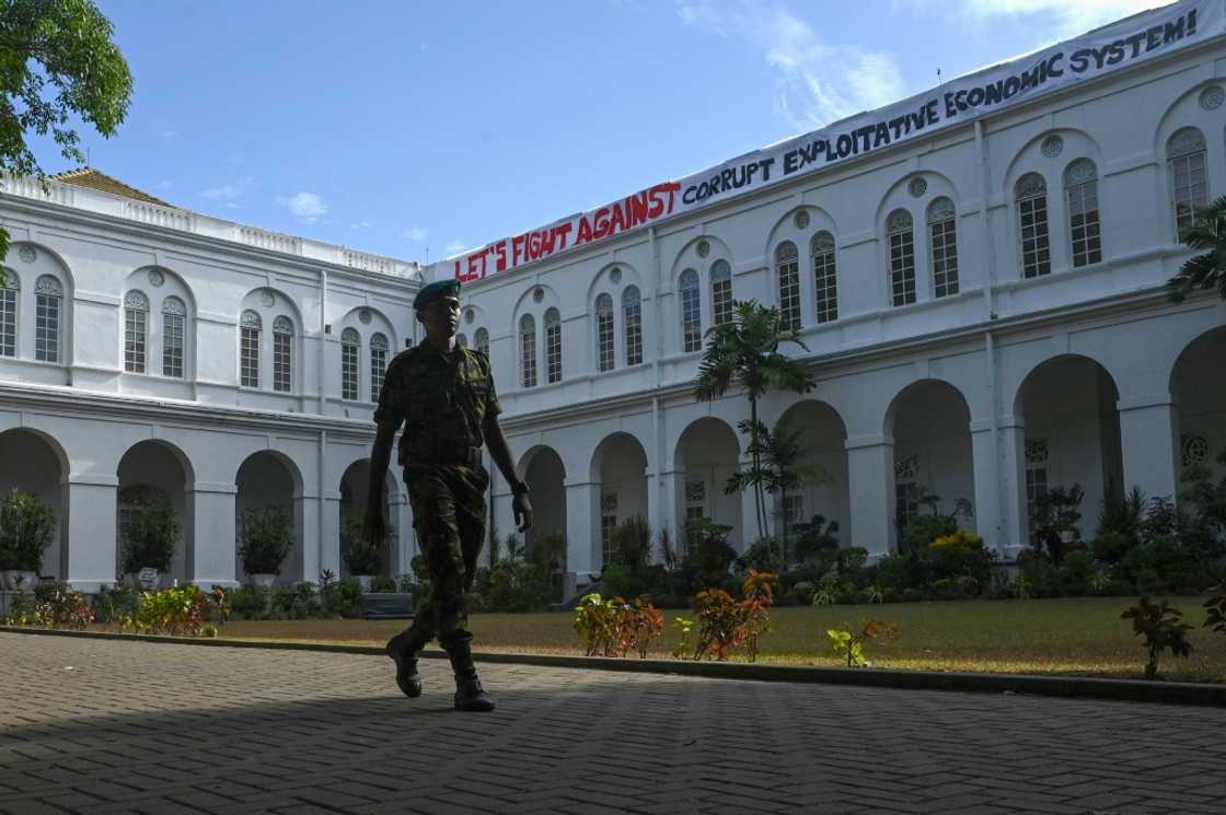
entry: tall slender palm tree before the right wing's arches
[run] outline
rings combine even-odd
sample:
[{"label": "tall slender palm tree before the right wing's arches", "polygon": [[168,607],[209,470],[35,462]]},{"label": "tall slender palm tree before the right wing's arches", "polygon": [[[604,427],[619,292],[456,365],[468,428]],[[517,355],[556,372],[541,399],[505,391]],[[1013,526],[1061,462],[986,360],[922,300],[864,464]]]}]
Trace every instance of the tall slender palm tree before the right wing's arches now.
[{"label": "tall slender palm tree before the right wing's arches", "polygon": [[[749,453],[753,472],[761,473],[765,447],[758,401],[770,390],[808,393],[815,382],[804,363],[780,353],[779,347],[785,343],[794,343],[804,351],[809,348],[801,339],[801,332],[780,315],[779,309],[756,300],[737,301],[734,305],[731,321],[706,331],[706,349],[699,364],[694,396],[699,401],[712,402],[733,384],[745,390],[749,397]],[[748,479],[745,485],[754,490],[758,537],[765,537],[764,479],[755,477]]]}]

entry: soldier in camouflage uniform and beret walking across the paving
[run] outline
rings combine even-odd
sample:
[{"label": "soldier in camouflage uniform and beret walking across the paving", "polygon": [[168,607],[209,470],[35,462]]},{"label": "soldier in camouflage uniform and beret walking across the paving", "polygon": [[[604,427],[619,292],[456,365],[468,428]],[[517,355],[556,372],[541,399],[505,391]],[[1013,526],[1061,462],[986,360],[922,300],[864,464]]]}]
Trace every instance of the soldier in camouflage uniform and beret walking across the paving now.
[{"label": "soldier in camouflage uniform and beret walking across the paving", "polygon": [[397,354],[387,366],[370,455],[367,537],[384,539],[384,478],[391,442],[401,423],[398,461],[413,507],[417,542],[433,586],[413,625],[387,642],[396,662],[396,684],[406,696],[422,692],[417,657],[438,636],[456,678],[456,710],[489,711],[494,702],[481,686],[472,663],[465,592],[472,588],[477,555],[485,537],[485,488],[482,441],[515,495],[512,509],[520,532],[532,525],[527,485],[515,474],[506,436],[498,424],[501,406],[485,354],[456,344],[460,325],[460,282],[438,281],[413,300],[425,339]]}]

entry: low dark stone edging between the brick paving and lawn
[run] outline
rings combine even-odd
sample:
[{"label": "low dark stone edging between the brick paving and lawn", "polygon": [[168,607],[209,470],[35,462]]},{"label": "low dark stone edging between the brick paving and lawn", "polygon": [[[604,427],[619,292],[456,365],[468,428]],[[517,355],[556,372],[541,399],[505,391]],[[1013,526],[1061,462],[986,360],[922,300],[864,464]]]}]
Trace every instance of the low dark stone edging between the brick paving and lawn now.
[{"label": "low dark stone edging between the brick paving and lawn", "polygon": [[[268,648],[275,651],[316,651],[326,653],[357,653],[384,656],[381,646],[333,645],[322,642],[275,642],[260,640],[224,640],[205,637],[116,634],[110,631],[64,631],[0,625],[0,632],[83,637],[93,640],[132,640],[168,645],[202,645],[228,648]],[[430,648],[422,653],[430,659],[446,654]],[[969,672],[894,670],[885,668],[850,669],[814,665],[771,665],[745,662],[690,662],[687,659],[634,659],[614,657],[571,657],[548,653],[473,652],[477,662],[541,665],[546,668],[581,668],[586,670],[625,670],[634,673],[679,674],[707,679],[742,679],[756,681],[823,683],[832,685],[864,685],[907,690],[954,690],[964,692],[1013,692],[1035,696],[1078,699],[1108,699],[1134,702],[1163,702],[1226,707],[1226,684],[1145,681],[1138,679],[1101,679],[1094,677],[1043,677],[1032,674],[988,674]]]}]

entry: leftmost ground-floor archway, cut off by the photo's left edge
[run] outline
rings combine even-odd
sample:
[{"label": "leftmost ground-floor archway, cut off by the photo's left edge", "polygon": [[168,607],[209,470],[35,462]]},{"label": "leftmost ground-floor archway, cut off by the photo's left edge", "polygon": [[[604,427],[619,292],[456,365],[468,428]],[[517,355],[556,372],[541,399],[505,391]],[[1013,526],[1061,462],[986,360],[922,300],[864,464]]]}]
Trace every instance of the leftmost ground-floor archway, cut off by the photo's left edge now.
[{"label": "leftmost ground-floor archway, cut off by the photo's left edge", "polygon": [[54,440],[34,430],[0,433],[0,496],[20,489],[47,504],[55,512],[56,533],[43,555],[42,575],[67,577],[67,490],[60,483],[66,460]]}]

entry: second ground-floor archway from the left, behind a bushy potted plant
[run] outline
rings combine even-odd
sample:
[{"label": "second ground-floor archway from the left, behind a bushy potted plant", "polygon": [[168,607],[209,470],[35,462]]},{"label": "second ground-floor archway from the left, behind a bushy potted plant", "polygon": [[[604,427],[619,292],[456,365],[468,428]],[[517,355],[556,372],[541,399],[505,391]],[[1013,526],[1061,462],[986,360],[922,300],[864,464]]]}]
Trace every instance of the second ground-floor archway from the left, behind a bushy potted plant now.
[{"label": "second ground-floor archway from the left, behind a bushy potted plant", "polygon": [[170,570],[161,575],[163,585],[172,581],[184,583],[192,577],[191,539],[192,518],[188,500],[188,484],[191,466],[181,450],[167,441],[150,439],[128,449],[119,460],[119,512],[115,518],[115,574],[123,569],[125,528],[134,515],[141,511],[151,500],[164,500],[174,511],[180,525],[178,539],[174,542],[174,555]]}]

